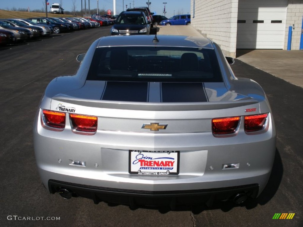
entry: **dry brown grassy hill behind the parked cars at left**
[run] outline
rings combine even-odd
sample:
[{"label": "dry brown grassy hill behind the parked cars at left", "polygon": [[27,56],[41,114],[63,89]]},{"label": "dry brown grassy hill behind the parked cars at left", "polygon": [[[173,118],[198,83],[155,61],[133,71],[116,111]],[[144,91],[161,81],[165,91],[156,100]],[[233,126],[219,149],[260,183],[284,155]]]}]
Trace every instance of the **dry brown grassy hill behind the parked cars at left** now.
[{"label": "dry brown grassy hill behind the parked cars at left", "polygon": [[[48,13],[48,17],[62,17],[60,14]],[[20,11],[8,11],[0,9],[0,19],[6,18],[30,18],[30,17],[45,17],[45,13],[33,13],[33,12],[20,12]],[[73,15],[65,15],[64,17],[74,17]]]}]

